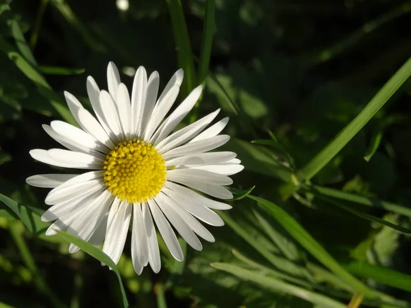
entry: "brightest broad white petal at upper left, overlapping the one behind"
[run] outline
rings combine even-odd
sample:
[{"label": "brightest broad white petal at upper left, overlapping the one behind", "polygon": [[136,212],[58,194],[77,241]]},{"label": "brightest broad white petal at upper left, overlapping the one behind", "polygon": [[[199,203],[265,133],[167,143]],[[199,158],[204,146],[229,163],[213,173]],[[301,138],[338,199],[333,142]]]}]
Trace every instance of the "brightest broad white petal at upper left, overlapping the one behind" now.
[{"label": "brightest broad white petal at upper left, overlapping the one behind", "polygon": [[58,133],[60,136],[64,136],[70,140],[77,142],[78,144],[82,144],[82,146],[86,146],[90,149],[95,151],[100,151],[101,153],[107,153],[108,149],[106,146],[103,146],[93,136],[82,129],[78,129],[77,127],[65,123],[60,120],[51,121],[51,128]]}]

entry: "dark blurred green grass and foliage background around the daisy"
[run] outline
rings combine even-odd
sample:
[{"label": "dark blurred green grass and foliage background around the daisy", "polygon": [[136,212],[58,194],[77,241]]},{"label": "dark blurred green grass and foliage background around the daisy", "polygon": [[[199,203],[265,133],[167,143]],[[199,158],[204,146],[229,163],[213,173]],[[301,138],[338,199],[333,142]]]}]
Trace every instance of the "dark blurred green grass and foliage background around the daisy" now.
[{"label": "dark blurred green grass and foliage background around the daisy", "polygon": [[140,65],[205,84],[184,124],[221,107],[234,187],[271,201],[232,202],[183,263],[159,239],[160,274],[134,273],[127,240],[130,307],[347,307],[358,287],[361,307],[411,307],[410,237],[390,227],[411,227],[411,81],[305,188],[294,175],[406,62],[410,16],[406,0],[0,1],[0,307],[123,305],[107,267],[44,235],[47,192],[25,184],[52,169],[28,154],[56,145],[41,125],[72,120],[62,92],[89,106],[109,61],[128,86]]}]

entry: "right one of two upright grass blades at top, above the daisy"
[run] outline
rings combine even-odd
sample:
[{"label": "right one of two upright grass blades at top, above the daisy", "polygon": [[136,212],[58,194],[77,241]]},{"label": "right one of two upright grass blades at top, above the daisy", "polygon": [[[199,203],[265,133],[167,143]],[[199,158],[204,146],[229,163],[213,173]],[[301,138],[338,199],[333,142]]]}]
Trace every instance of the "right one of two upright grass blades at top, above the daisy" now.
[{"label": "right one of two upright grass blades at top, above the daisy", "polygon": [[203,83],[208,75],[210,66],[210,56],[212,49],[212,36],[214,34],[215,3],[208,0],[206,4],[206,14],[204,16],[203,38],[201,41],[201,53],[199,62],[199,82]]}]

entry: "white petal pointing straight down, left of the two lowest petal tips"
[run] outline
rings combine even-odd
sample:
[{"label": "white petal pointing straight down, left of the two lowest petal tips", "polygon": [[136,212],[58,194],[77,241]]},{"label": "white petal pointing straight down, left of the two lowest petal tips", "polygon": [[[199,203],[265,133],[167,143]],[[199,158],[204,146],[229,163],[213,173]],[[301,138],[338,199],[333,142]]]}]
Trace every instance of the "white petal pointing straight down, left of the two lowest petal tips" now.
[{"label": "white petal pointing straight down, left of the two lowest petal tips", "polygon": [[133,205],[132,261],[136,272],[149,263],[149,242],[140,203]]}]

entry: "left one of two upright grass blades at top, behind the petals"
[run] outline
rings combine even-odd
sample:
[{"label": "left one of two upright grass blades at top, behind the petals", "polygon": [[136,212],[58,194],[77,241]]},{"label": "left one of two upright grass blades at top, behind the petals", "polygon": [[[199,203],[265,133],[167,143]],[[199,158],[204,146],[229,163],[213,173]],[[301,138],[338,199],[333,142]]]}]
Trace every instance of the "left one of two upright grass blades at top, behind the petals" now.
[{"label": "left one of two upright grass blades at top, behind the petals", "polygon": [[190,38],[188,37],[186,18],[184,17],[182,3],[180,0],[166,1],[169,5],[175,47],[177,48],[177,62],[179,67],[184,70],[184,80],[181,94],[183,97],[186,97],[196,84],[194,61],[192,60],[192,51]]}]

